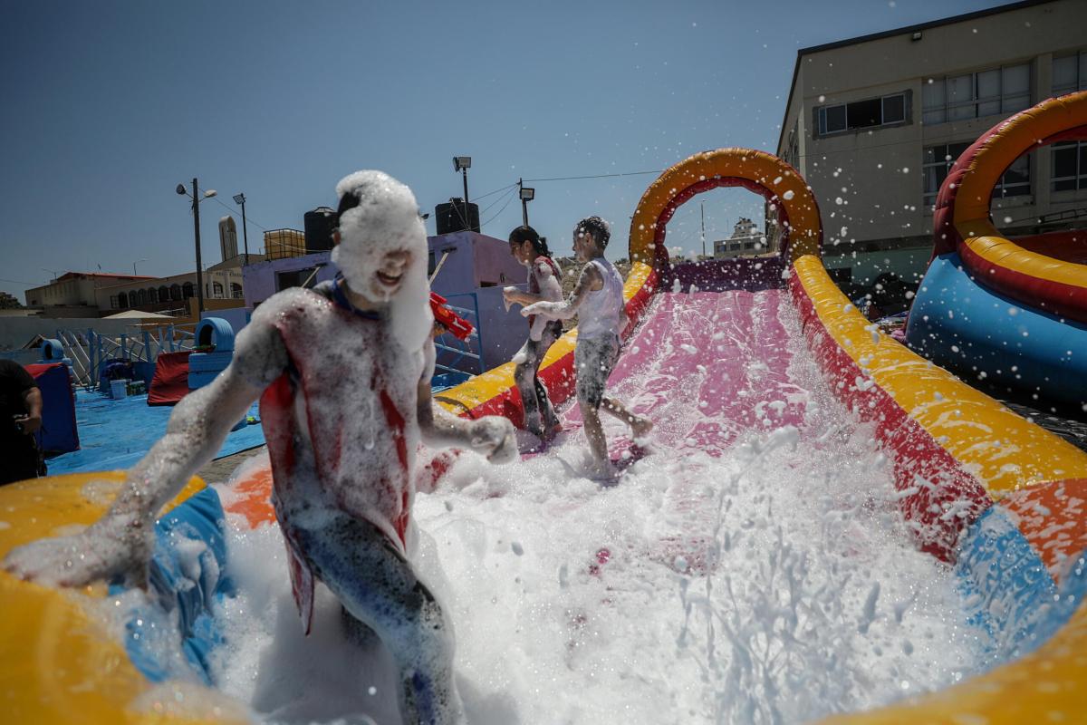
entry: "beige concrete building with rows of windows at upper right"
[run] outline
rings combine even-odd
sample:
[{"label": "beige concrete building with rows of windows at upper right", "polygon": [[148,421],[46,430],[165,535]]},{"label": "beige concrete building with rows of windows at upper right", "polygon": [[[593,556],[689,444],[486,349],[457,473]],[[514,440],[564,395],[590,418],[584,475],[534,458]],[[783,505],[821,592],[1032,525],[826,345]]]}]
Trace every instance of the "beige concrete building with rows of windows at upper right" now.
[{"label": "beige concrete building with rows of windows at upper right", "polygon": [[[1084,0],[1028,0],[798,51],[777,154],[815,192],[839,284],[920,282],[951,164],[1001,118],[1087,89],[1085,28]],[[1012,236],[1082,225],[1087,143],[1016,160],[992,217]]]}]

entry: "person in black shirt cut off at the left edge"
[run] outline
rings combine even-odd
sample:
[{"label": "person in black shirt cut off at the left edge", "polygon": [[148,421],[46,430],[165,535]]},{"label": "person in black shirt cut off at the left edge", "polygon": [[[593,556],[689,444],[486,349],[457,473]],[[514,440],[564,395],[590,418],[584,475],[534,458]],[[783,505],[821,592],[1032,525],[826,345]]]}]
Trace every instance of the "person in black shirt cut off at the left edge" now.
[{"label": "person in black shirt cut off at the left edge", "polygon": [[41,428],[41,390],[14,360],[0,360],[0,484],[36,478],[41,454],[34,435]]}]

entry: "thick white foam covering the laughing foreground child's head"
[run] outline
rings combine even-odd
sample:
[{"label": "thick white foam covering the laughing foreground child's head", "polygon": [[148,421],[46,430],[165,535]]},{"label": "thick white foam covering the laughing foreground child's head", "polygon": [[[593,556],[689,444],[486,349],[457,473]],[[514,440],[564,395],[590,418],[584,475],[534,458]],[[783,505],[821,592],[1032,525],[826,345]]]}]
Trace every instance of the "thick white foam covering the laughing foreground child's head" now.
[{"label": "thick white foam covering the laughing foreground child's head", "polygon": [[[389,304],[393,334],[409,350],[418,350],[429,338],[434,316],[426,278],[426,228],[415,195],[379,171],[345,176],[336,185],[336,195],[340,200],[351,195],[358,204],[340,214],[340,243],[333,250],[333,262],[352,291]],[[384,257],[395,251],[411,253],[400,288],[374,299],[373,275]]]}]

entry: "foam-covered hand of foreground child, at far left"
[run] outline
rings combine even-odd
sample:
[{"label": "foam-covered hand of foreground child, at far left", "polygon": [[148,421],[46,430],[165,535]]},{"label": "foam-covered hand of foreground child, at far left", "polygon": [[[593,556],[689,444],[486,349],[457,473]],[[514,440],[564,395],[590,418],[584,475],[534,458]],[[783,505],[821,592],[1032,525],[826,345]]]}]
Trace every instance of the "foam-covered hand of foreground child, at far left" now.
[{"label": "foam-covered hand of foreground child, at far left", "polygon": [[21,579],[79,587],[124,576],[146,586],[154,547],[154,525],[134,526],[129,517],[102,518],[73,536],[39,539],[13,549],[3,568]]}]

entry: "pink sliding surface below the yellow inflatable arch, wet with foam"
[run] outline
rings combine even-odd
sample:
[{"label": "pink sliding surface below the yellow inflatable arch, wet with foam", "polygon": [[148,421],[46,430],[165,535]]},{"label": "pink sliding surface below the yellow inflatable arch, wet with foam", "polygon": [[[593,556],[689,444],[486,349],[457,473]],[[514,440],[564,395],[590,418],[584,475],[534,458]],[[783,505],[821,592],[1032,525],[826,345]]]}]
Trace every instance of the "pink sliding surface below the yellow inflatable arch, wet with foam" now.
[{"label": "pink sliding surface below the yellow inflatable arch, wet with foam", "polygon": [[[744,430],[799,427],[807,391],[789,378],[783,305],[783,289],[658,295],[623,346],[609,395],[657,424],[657,450],[716,458]],[[576,404],[564,423],[580,426]],[[613,455],[630,445],[625,435],[609,439]]]}]

